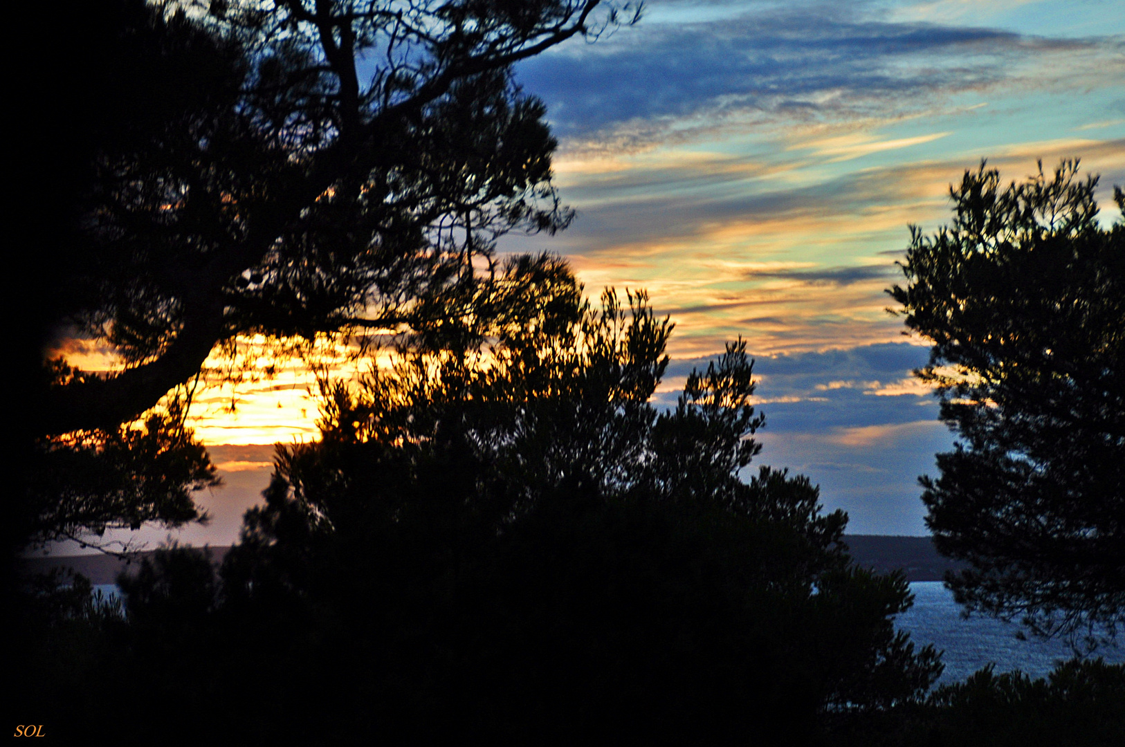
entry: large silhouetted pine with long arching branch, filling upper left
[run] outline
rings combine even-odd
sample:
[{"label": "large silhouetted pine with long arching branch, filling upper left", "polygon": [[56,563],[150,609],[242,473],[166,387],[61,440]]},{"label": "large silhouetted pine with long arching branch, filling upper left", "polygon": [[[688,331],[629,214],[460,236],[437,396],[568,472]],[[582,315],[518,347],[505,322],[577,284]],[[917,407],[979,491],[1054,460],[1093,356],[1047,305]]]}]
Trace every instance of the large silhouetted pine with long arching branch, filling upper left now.
[{"label": "large silhouetted pine with long arching branch, filling upper left", "polygon": [[[46,104],[83,126],[33,181],[60,198],[33,212],[32,461],[135,439],[129,423],[240,335],[408,326],[420,298],[477,281],[496,236],[565,227],[556,142],[512,65],[638,16],[598,0],[114,0],[64,19],[87,84]],[[61,325],[124,369],[40,368]],[[206,483],[182,422],[150,418],[165,423],[165,451],[190,462],[181,487]],[[127,523],[182,521],[180,492]],[[20,538],[107,525],[50,501],[27,502]]]}]

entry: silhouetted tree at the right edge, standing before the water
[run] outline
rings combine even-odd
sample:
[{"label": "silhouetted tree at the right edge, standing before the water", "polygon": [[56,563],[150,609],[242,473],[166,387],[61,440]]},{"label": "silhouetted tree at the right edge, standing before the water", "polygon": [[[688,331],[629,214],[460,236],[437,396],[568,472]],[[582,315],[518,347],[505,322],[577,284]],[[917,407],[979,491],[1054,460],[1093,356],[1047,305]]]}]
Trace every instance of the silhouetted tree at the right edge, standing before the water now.
[{"label": "silhouetted tree at the right edge, standing before the water", "polygon": [[921,478],[938,549],[971,564],[947,583],[1072,642],[1125,621],[1125,225],[1098,223],[1078,166],[1007,188],[966,171],[889,291],[934,343],[916,374],[960,438]]}]

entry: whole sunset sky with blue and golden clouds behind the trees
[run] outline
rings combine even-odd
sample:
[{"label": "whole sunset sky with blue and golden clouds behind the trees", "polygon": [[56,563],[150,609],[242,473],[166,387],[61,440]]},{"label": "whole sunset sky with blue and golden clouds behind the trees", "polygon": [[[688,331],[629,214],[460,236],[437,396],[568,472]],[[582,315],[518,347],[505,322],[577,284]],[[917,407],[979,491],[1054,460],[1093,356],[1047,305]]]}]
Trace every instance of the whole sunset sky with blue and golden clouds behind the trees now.
[{"label": "whole sunset sky with blue and golden clouds behind the trees", "polygon": [[[659,404],[745,339],[766,415],[756,465],[808,475],[853,533],[927,533],[917,478],[954,441],[911,377],[926,341],[886,310],[908,226],[946,223],[948,186],[982,159],[1005,181],[1081,159],[1107,225],[1125,186],[1122,0],[650,0],[637,26],[516,80],[548,106],[577,218],[500,250],[562,254],[595,297],[647,289],[676,325]],[[236,539],[266,444],[315,436],[309,384],[291,363],[198,393],[227,486],[201,496],[208,526],[174,537]]]}]

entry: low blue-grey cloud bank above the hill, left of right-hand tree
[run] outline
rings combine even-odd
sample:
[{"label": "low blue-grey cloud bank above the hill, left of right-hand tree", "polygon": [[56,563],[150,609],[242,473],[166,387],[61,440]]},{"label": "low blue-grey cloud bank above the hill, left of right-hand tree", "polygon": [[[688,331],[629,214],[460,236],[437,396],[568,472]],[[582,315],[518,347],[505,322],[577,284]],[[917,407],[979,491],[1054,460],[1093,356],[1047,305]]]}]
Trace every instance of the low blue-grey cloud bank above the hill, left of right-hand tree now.
[{"label": "low blue-grey cloud bank above the hill, left of right-hand tree", "polygon": [[[764,448],[750,471],[770,465],[809,476],[826,511],[848,513],[852,532],[927,533],[917,479],[935,472],[934,454],[952,448],[953,434],[928,393],[871,396],[927,358],[928,348],[904,343],[757,356],[755,404],[766,426],[755,434]],[[705,362],[674,360],[669,370]]]}]

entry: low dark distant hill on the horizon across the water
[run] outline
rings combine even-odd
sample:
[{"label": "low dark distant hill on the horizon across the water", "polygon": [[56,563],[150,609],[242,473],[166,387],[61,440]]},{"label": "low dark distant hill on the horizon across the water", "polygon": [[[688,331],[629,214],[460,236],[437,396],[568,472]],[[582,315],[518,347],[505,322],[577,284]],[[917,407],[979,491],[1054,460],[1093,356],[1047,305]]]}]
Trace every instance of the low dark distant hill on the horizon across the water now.
[{"label": "low dark distant hill on the horizon across the water", "polygon": [[[879,573],[903,570],[907,580],[942,580],[946,570],[958,570],[965,565],[944,558],[928,537],[891,537],[884,534],[845,534],[856,565]],[[215,564],[223,561],[228,547],[209,548]],[[152,551],[138,552],[132,560],[108,555],[46,556],[27,558],[24,567],[28,574],[47,573],[52,568],[73,568],[94,584],[112,584],[123,570],[135,568],[140,558]]]}]

